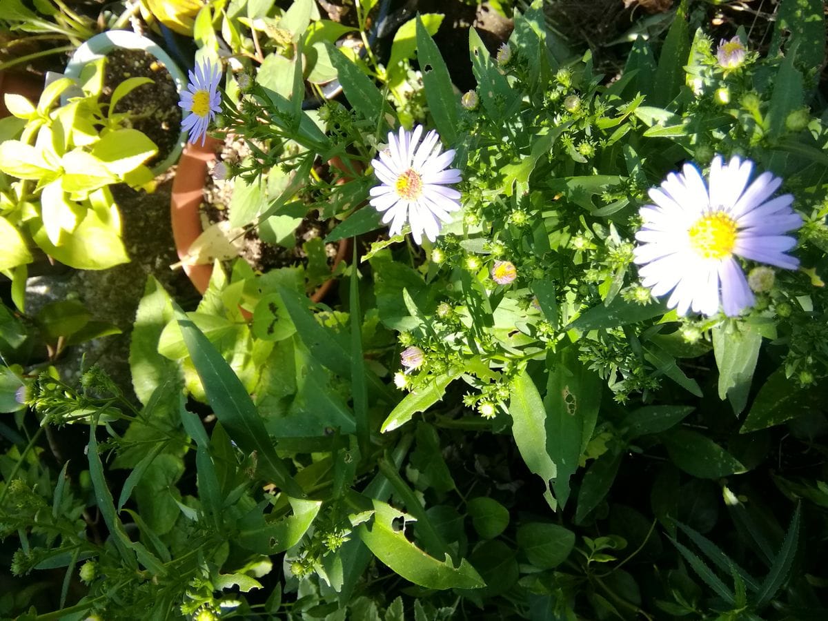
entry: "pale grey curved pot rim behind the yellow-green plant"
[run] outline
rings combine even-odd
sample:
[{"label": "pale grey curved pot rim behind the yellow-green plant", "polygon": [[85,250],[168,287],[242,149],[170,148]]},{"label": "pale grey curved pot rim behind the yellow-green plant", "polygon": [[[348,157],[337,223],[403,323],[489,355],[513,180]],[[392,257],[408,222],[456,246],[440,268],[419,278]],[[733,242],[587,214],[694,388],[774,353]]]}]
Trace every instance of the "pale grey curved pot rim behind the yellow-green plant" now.
[{"label": "pale grey curved pot rim behind the yellow-green plant", "polygon": [[[103,58],[108,52],[118,47],[124,50],[141,50],[155,56],[166,67],[166,70],[169,71],[172,81],[176,83],[178,94],[181,95],[181,92],[187,88],[187,79],[179,66],[176,65],[175,60],[172,60],[170,55],[161,46],[158,46],[152,41],[152,39],[130,30],[101,32],[93,36],[89,41],[84,42],[83,45],[75,50],[75,53],[66,64],[64,75],[67,78],[79,78],[80,72],[85,65],[93,60]],[[68,99],[68,94],[61,95],[60,104],[65,105]],[[152,173],[154,175],[160,175],[178,161],[181,157],[181,152],[184,150],[186,140],[187,132],[182,130],[181,135],[178,137],[178,142],[176,142],[176,146],[173,147],[170,155],[166,156],[166,159],[161,161],[160,164],[152,167]]]}]

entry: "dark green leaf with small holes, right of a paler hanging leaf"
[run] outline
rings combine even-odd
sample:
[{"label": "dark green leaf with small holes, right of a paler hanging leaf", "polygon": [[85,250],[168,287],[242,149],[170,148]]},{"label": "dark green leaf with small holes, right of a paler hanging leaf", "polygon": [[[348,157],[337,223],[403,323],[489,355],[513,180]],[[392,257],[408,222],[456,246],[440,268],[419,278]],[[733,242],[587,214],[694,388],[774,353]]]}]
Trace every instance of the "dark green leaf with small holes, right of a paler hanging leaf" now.
[{"label": "dark green leaf with small holes, right of a paler hanging leaf", "polygon": [[574,348],[556,355],[546,384],[546,451],[557,466],[552,481],[561,508],[570,494],[570,476],[595,429],[603,383],[575,358]]}]

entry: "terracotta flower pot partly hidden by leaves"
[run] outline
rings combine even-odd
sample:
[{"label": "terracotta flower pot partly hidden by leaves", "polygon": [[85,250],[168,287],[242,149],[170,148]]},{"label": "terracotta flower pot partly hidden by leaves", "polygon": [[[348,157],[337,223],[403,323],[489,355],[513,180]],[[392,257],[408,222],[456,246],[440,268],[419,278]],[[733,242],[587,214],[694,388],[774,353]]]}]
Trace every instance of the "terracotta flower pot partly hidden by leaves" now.
[{"label": "terracotta flower pot partly hidden by leaves", "polygon": [[[190,246],[202,233],[199,207],[204,197],[204,186],[207,181],[207,163],[215,159],[216,150],[221,144],[221,141],[212,137],[207,137],[203,147],[200,143],[188,143],[181,154],[178,170],[172,181],[170,214],[176,252],[183,262],[185,273],[201,294],[207,291],[210,276],[213,274],[213,266],[211,264],[188,265],[185,259],[188,257]],[[342,163],[338,158],[331,160],[330,165],[342,170]],[[340,182],[344,181],[344,179],[340,180]],[[350,238],[339,241],[339,248],[331,269],[335,269],[340,262],[347,260],[350,248]],[[330,288],[334,286],[334,282],[333,278],[323,282],[319,289],[310,296],[310,299],[314,302],[324,299]]]}]

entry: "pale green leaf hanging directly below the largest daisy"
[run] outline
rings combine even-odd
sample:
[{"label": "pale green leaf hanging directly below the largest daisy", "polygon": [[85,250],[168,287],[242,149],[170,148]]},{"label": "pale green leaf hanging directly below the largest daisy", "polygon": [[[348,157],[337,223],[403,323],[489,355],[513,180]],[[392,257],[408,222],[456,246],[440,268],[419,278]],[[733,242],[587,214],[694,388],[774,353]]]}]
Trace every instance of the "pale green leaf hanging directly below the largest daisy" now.
[{"label": "pale green leaf hanging directly below the largest daisy", "polygon": [[750,324],[717,325],[713,330],[713,353],[719,367],[719,398],[728,398],[734,414],[748,402],[753,370],[762,345],[762,335]]}]

